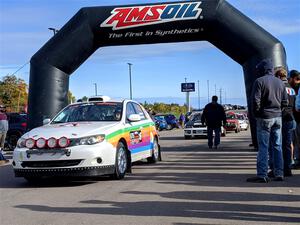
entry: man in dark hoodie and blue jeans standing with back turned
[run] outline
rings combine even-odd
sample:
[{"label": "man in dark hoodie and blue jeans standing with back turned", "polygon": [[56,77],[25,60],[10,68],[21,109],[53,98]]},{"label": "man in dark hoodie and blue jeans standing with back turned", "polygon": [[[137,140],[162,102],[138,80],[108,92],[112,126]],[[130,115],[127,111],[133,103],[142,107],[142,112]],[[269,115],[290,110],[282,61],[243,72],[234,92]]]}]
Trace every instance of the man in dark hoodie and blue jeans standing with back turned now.
[{"label": "man in dark hoodie and blue jeans standing with back turned", "polygon": [[261,61],[257,66],[259,78],[252,89],[252,110],[257,127],[257,176],[247,182],[267,183],[268,149],[273,155],[275,181],[283,181],[283,158],[281,143],[282,109],[288,105],[288,96],[284,83],[274,76],[270,59]]}]

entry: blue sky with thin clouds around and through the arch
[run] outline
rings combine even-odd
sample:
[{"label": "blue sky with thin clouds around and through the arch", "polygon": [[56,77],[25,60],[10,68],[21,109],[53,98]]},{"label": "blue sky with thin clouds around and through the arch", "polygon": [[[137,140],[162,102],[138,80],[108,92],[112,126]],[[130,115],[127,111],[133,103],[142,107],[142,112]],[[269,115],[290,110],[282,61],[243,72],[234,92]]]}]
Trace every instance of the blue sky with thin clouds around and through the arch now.
[{"label": "blue sky with thin clouds around and through the arch", "polygon": [[[0,0],[0,79],[15,74],[29,82],[27,63],[53,36],[48,27],[60,29],[80,8],[153,2],[170,1]],[[228,2],[278,38],[288,67],[300,70],[299,0]],[[98,49],[71,75],[71,92],[77,99],[92,96],[96,83],[98,94],[129,98],[128,62],[133,64],[133,98],[138,101],[183,104],[180,83],[186,78],[196,84],[199,80],[201,107],[208,101],[207,80],[210,96],[222,88],[223,103],[226,95],[226,103],[246,104],[242,67],[206,41]],[[191,93],[193,107],[198,106],[197,96],[197,90]]]}]

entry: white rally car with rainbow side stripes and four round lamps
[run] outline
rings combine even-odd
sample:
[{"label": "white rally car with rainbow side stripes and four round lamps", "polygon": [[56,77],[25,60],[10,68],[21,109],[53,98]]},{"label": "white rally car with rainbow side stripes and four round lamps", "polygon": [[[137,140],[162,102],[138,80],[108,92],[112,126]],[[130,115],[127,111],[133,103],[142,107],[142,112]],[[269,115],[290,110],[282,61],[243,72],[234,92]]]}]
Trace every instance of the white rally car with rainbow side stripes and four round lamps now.
[{"label": "white rally car with rainbow side stripes and four round lamps", "polygon": [[88,101],[64,108],[48,124],[25,133],[13,153],[16,177],[113,175],[131,163],[160,160],[155,124],[137,102]]}]

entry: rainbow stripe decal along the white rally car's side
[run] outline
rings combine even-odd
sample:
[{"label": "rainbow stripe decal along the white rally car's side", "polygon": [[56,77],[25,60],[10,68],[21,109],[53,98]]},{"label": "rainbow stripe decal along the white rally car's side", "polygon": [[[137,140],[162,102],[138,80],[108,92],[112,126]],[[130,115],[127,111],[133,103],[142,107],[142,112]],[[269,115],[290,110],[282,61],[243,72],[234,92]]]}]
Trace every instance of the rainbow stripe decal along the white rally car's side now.
[{"label": "rainbow stripe decal along the white rally car's side", "polygon": [[149,150],[153,147],[154,135],[157,134],[155,124],[145,124],[117,130],[105,137],[106,141],[117,147],[121,138],[126,140],[128,149],[132,154]]}]

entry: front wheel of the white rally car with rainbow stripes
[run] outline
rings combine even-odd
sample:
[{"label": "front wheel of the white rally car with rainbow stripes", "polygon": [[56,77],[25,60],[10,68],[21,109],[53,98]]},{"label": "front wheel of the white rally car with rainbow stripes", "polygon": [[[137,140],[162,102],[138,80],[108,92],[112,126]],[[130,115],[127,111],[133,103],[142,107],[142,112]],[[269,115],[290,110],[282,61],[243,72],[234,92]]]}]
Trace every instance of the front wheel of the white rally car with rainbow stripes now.
[{"label": "front wheel of the white rally car with rainbow stripes", "polygon": [[122,142],[119,142],[117,146],[116,162],[115,162],[115,173],[113,178],[121,180],[125,177],[125,173],[128,166],[127,149]]}]

